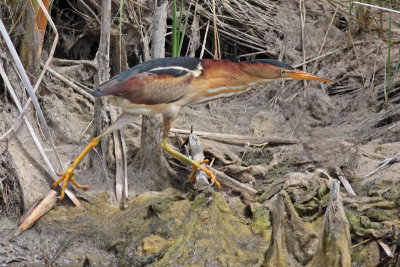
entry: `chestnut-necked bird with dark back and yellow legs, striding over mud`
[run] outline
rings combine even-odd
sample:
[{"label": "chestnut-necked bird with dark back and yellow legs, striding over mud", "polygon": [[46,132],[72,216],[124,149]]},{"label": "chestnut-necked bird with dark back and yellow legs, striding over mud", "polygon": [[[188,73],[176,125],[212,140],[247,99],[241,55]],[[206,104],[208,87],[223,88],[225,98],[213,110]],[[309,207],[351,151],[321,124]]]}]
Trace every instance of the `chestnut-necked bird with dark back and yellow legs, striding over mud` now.
[{"label": "chestnut-necked bird with dark back and yellow legs, striding over mud", "polygon": [[279,80],[314,80],[333,82],[293,68],[275,59],[255,59],[234,62],[226,59],[198,59],[189,57],[167,57],[152,59],[138,64],[99,85],[93,91],[95,97],[109,97],[113,105],[123,113],[101,134],[94,137],[67,170],[59,174],[53,188],[61,182],[60,199],[68,181],[77,188],[87,189],[74,179],[74,170],[81,160],[95,148],[100,139],[129,124],[138,114],[162,114],[163,132],[161,148],[192,166],[190,179],[195,182],[194,171],[200,169],[210,178],[211,184],[220,188],[214,174],[202,163],[172,149],[167,142],[173,120],[185,106],[202,104],[219,98],[241,95],[259,84]]}]

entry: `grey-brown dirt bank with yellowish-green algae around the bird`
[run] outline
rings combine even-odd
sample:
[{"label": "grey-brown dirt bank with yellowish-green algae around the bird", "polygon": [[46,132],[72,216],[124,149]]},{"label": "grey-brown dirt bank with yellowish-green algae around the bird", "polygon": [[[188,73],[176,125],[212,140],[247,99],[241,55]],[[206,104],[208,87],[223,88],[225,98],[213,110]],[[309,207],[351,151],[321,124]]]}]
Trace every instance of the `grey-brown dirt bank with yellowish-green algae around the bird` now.
[{"label": "grey-brown dirt bank with yellowish-green algae around the bird", "polygon": [[[350,255],[341,257],[351,257],[352,266],[384,266],[392,258],[384,253],[384,246],[377,242],[380,240],[393,252],[392,263],[396,261],[399,160],[368,174],[400,152],[399,78],[392,77],[393,87],[385,104],[386,39],[380,38],[377,29],[353,29],[349,35],[343,28],[346,17],[339,14],[330,27],[334,10],[307,3],[304,50],[308,58],[317,55],[322,43],[322,54],[333,51],[318,61],[315,71],[315,61],[307,64],[307,71],[337,82],[259,86],[236,98],[187,107],[174,123],[176,128],[193,126],[198,131],[300,140],[299,144],[276,147],[229,146],[202,140],[206,156],[216,157],[216,168],[253,166],[246,177],[259,192],[255,199],[224,188],[216,193],[207,188],[186,194],[180,184],[189,170],[177,167],[176,161],[172,166],[179,170],[178,178],[162,182],[149,181],[143,175],[138,178],[136,167],[129,163],[131,202],[119,210],[113,197],[112,164],[106,179],[101,168],[94,170],[98,156],[93,152],[95,163],[84,160],[76,172],[79,182],[91,186],[86,192],[77,192],[85,210],[78,210],[68,200],[58,203],[32,229],[13,241],[0,241],[0,263],[318,266],[313,257],[327,213],[329,177],[337,178],[338,169],[357,195],[351,196],[341,185],[348,223],[340,229],[349,227],[351,238],[347,241],[352,246]],[[302,62],[298,13],[297,1],[282,1],[277,23],[284,37],[271,36],[274,46],[281,48],[282,60],[292,65]],[[400,17],[393,15],[393,19],[399,21]],[[391,46],[392,69],[400,58],[399,37],[398,28],[393,29],[392,38],[397,42]],[[4,91],[1,98],[5,119],[0,123],[6,129],[18,114]],[[62,160],[68,162],[91,138],[92,128],[85,129],[92,119],[93,105],[51,75],[39,99]],[[35,123],[32,113],[30,119]],[[36,130],[39,132],[38,127]],[[140,127],[129,126],[125,137],[132,161],[140,146]],[[0,202],[2,240],[17,227],[20,210],[15,203],[28,207],[47,193],[51,180],[24,126],[0,148],[3,199],[6,185],[9,191],[17,192],[8,193],[9,206]],[[47,151],[50,155],[50,149]],[[35,182],[18,181],[28,178]],[[286,217],[277,226],[279,213]],[[342,239],[347,238],[343,231]],[[344,260],[342,266],[348,263]]]}]

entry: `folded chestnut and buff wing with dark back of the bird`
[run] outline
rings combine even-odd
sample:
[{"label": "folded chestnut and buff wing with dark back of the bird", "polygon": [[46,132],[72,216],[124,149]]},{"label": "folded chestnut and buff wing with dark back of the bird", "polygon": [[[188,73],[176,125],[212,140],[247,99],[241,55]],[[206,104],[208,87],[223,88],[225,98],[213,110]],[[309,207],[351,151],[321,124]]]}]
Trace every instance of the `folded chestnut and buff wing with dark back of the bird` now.
[{"label": "folded chestnut and buff wing with dark back of the bird", "polygon": [[199,59],[156,59],[115,76],[100,85],[93,95],[116,95],[134,104],[172,103],[185,95],[193,77],[199,75],[202,75]]}]

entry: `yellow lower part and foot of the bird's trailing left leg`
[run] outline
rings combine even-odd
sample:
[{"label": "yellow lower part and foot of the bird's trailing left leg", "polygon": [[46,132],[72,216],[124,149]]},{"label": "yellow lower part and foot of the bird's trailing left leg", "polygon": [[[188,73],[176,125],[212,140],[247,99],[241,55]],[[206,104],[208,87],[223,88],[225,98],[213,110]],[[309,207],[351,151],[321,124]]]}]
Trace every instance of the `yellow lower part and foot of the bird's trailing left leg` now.
[{"label": "yellow lower part and foot of the bird's trailing left leg", "polygon": [[89,188],[88,185],[80,185],[75,181],[74,170],[75,170],[76,166],[78,166],[78,164],[81,162],[81,160],[90,152],[90,150],[92,150],[99,144],[100,139],[101,139],[100,136],[93,138],[90,141],[90,143],[86,146],[86,148],[82,151],[82,153],[68,167],[68,169],[63,174],[58,174],[61,177],[57,181],[55,181],[51,187],[55,188],[58,186],[59,183],[61,183],[61,182],[63,183],[62,188],[61,188],[60,200],[64,198],[64,191],[65,191],[65,188],[67,187],[68,180],[70,180],[71,183],[73,183],[78,188],[84,188],[84,189]]}]

